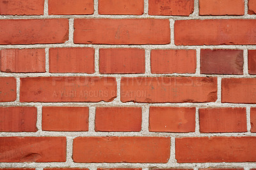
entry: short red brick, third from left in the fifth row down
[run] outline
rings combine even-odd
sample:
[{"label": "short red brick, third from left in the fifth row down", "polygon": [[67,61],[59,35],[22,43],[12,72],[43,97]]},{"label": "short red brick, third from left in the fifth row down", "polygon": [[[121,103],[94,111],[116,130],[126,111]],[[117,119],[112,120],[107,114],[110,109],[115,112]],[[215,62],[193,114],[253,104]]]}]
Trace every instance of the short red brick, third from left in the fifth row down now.
[{"label": "short red brick, third from left in the fifth row down", "polygon": [[97,107],[95,131],[140,132],[141,107]]}]

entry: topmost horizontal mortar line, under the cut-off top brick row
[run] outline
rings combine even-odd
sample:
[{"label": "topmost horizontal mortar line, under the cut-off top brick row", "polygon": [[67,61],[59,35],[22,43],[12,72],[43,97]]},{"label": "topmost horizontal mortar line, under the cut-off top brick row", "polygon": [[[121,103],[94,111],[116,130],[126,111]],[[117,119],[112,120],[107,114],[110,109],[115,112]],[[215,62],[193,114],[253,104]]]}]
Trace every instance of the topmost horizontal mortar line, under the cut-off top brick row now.
[{"label": "topmost horizontal mortar line, under the cut-off top brick row", "polygon": [[0,15],[1,19],[173,19],[173,20],[204,20],[204,19],[256,19],[254,15]]}]

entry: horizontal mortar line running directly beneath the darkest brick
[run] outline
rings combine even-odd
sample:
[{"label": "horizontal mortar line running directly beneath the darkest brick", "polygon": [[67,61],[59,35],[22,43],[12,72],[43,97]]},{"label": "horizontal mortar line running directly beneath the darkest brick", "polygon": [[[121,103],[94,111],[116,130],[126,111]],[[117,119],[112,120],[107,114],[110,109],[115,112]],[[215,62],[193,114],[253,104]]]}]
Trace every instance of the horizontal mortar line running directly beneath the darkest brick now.
[{"label": "horizontal mortar line running directly beneath the darkest brick", "polygon": [[221,78],[256,78],[256,75],[220,75],[220,74],[196,74],[196,73],[164,73],[164,74],[153,74],[153,73],[113,73],[113,74],[106,74],[106,73],[6,73],[0,72],[0,77],[17,77],[17,78],[24,78],[24,77],[221,77]]}]

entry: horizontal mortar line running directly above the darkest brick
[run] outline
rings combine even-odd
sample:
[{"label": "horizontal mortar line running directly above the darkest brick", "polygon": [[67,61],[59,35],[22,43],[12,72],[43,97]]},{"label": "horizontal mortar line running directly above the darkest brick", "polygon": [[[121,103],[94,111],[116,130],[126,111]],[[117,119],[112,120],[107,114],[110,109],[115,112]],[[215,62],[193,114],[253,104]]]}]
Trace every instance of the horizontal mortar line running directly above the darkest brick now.
[{"label": "horizontal mortar line running directly above the darkest brick", "polygon": [[45,43],[45,44],[15,44],[15,45],[0,45],[0,49],[40,49],[40,48],[60,48],[60,47],[91,47],[91,48],[139,48],[139,49],[256,49],[256,45],[171,45],[169,44],[70,44],[67,43]]}]

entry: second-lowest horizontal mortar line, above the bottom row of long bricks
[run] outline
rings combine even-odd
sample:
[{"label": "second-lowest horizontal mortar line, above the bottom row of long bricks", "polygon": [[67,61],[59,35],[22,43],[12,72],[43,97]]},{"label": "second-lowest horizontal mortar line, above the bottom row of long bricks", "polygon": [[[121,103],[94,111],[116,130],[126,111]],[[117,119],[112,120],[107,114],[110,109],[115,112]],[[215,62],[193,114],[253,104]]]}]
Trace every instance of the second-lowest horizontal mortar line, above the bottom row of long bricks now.
[{"label": "second-lowest horizontal mortar line, above the bottom row of long bricks", "polygon": [[38,131],[38,132],[0,132],[0,137],[256,137],[256,133],[198,133],[198,132],[61,132],[61,131]]}]

